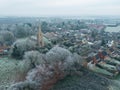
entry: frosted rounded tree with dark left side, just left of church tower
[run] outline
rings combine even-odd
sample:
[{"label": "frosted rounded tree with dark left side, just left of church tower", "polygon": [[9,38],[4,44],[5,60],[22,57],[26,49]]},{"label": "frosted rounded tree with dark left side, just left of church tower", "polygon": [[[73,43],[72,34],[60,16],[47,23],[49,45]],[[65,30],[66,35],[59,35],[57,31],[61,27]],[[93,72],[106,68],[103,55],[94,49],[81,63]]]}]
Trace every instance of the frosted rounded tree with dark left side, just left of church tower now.
[{"label": "frosted rounded tree with dark left side, just left of church tower", "polygon": [[20,39],[14,42],[11,49],[11,55],[16,58],[22,58],[24,52],[34,50],[36,43],[27,39]]}]

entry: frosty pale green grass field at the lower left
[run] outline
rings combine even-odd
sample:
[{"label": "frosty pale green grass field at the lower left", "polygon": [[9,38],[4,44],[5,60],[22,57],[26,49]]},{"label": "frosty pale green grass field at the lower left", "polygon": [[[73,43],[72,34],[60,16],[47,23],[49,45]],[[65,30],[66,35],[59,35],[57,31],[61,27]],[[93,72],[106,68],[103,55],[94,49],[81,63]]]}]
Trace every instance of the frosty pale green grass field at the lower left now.
[{"label": "frosty pale green grass field at the lower left", "polygon": [[21,73],[21,61],[0,57],[0,90],[9,87],[16,80],[18,73]]}]

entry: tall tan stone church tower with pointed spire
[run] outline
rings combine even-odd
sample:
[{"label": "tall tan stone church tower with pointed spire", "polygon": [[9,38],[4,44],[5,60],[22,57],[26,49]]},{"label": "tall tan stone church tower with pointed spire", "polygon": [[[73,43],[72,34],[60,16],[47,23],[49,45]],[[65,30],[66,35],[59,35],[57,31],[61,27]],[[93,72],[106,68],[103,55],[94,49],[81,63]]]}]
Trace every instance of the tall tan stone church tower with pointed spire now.
[{"label": "tall tan stone church tower with pointed spire", "polygon": [[44,40],[43,40],[43,33],[41,31],[41,26],[38,28],[38,33],[37,33],[37,45],[39,47],[44,47]]}]

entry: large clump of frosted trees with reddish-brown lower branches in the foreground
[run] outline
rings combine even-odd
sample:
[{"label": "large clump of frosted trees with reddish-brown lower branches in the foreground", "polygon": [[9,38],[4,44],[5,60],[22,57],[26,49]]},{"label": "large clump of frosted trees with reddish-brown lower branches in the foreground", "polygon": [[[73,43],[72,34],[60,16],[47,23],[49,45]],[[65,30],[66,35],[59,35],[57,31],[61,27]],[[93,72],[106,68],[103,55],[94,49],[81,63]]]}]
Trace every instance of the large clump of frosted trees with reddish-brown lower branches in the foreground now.
[{"label": "large clump of frosted trees with reddish-brown lower branches in the foreground", "polygon": [[[37,51],[26,52],[24,56],[25,65],[28,67],[34,66],[27,74],[25,82],[36,83],[36,90],[50,90],[57,81],[63,79],[66,75],[76,72],[76,65],[81,66],[81,57],[77,54],[72,54],[68,50],[61,47],[52,48],[46,55],[42,55]],[[77,64],[76,64],[77,63]],[[17,83],[11,88],[22,87],[24,90],[25,82]],[[32,90],[32,89],[31,89]]]}]

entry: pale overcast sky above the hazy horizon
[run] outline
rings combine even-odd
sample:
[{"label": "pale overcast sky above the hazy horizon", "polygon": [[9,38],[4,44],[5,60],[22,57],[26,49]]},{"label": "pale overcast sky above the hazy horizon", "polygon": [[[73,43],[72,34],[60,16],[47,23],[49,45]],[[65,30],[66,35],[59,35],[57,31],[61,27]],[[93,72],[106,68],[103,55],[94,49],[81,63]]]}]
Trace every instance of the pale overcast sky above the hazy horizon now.
[{"label": "pale overcast sky above the hazy horizon", "polygon": [[120,0],[0,0],[0,16],[120,15]]}]

